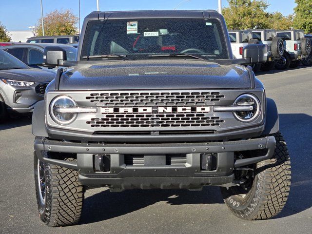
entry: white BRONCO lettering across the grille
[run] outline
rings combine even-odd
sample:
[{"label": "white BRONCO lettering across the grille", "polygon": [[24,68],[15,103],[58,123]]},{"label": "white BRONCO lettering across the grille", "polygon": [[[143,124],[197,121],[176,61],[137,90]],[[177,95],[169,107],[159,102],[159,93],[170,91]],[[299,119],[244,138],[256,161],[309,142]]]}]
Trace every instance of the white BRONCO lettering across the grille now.
[{"label": "white BRONCO lettering across the grille", "polygon": [[100,113],[208,113],[209,106],[185,107],[101,107]]}]

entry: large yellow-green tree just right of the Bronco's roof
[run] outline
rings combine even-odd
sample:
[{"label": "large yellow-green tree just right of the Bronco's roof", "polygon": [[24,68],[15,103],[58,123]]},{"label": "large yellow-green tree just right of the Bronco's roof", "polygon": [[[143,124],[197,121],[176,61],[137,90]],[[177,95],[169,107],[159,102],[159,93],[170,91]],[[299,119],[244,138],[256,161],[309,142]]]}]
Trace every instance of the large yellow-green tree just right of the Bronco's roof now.
[{"label": "large yellow-green tree just right of the Bronco's roof", "polygon": [[268,28],[269,4],[265,0],[228,0],[222,14],[229,29]]}]

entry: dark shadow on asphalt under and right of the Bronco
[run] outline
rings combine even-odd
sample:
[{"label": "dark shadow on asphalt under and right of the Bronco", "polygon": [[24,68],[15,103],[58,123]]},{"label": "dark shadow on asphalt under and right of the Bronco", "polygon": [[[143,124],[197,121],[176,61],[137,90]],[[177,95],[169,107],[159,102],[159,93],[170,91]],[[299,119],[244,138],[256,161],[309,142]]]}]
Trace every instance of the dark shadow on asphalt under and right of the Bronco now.
[{"label": "dark shadow on asphalt under and right of the Bronco", "polygon": [[[292,162],[292,185],[286,208],[276,218],[312,207],[312,117],[305,114],[280,114],[280,131],[286,139]],[[105,190],[87,197],[82,223],[93,223],[125,215],[164,201],[172,205],[223,203],[219,188],[188,190],[129,190],[110,193]]]}]

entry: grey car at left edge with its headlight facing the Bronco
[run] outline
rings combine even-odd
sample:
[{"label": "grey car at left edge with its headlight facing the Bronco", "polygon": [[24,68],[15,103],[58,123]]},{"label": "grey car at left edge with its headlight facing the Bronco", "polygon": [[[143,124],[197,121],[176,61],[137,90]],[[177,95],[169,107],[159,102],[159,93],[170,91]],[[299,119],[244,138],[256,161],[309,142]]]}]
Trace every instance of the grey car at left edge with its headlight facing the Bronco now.
[{"label": "grey car at left edge with its headlight facing the Bronco", "polygon": [[0,121],[9,115],[31,113],[54,77],[54,73],[30,68],[0,49]]}]

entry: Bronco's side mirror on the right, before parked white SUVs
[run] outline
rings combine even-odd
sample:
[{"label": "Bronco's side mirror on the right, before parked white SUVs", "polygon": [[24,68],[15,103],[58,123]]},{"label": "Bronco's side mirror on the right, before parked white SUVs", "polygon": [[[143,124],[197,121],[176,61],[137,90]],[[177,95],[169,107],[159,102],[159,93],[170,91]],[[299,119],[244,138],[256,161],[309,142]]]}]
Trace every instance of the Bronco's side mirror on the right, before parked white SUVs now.
[{"label": "Bronco's side mirror on the right, before parked white SUVs", "polygon": [[267,61],[268,49],[265,44],[249,44],[243,49],[243,58],[250,59],[250,63],[264,63]]}]

